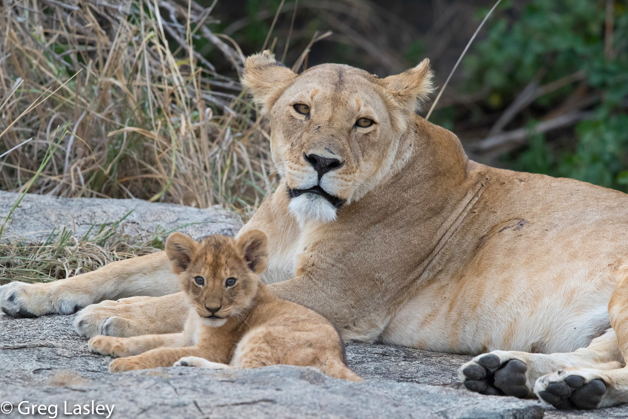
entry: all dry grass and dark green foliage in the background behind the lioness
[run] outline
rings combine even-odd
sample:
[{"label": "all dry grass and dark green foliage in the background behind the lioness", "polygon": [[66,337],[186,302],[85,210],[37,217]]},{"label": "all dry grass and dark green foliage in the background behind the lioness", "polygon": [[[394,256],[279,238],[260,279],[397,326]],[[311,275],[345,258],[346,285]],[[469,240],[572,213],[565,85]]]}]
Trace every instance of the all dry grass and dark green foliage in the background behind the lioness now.
[{"label": "all dry grass and dark green foliage in the background behind the lioness", "polygon": [[[277,178],[246,55],[380,77],[430,58],[440,88],[493,4],[0,0],[0,188],[41,169],[30,192],[251,214]],[[628,192],[627,32],[628,0],[502,0],[430,121],[481,163]]]}]

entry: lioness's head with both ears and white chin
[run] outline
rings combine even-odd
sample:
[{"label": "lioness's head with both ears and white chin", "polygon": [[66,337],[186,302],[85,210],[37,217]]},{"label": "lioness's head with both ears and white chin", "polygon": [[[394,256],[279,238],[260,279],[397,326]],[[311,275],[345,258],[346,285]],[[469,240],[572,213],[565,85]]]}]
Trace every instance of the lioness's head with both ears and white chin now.
[{"label": "lioness's head with both ears and white chin", "polygon": [[430,92],[426,61],[386,79],[338,64],[296,75],[264,52],[247,59],[242,81],[271,121],[273,161],[300,222],[334,220],[386,177]]}]

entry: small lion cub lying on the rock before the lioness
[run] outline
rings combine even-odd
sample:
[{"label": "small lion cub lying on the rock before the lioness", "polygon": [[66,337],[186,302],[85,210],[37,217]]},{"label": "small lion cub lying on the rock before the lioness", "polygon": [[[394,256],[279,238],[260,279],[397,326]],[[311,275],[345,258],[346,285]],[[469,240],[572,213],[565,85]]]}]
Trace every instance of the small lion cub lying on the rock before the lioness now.
[{"label": "small lion cub lying on the rock before the lioness", "polygon": [[255,368],[313,366],[328,376],[362,381],[347,368],[338,332],[309,308],[282,300],[259,279],[268,263],[268,239],[251,230],[238,241],[220,235],[197,242],[181,233],[166,254],[190,302],[183,333],[95,336],[89,348],[114,359],[109,371],[200,366]]}]

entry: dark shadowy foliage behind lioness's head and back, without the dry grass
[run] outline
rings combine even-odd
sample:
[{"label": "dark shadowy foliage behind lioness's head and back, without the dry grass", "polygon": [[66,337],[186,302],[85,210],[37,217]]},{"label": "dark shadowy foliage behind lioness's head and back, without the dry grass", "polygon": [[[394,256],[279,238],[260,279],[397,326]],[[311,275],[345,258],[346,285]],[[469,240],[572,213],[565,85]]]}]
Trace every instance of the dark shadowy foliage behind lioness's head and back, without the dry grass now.
[{"label": "dark shadowy foliage behind lioness's head and back, without the dry grass", "polygon": [[[280,4],[219,1],[213,14],[220,23],[212,29],[245,54],[257,52]],[[296,62],[316,31],[331,30],[311,47],[305,65],[347,63],[385,76],[427,57],[442,85],[492,4],[301,0],[285,62]],[[294,9],[295,1],[284,2],[269,37],[278,57]],[[452,129],[475,160],[626,192],[627,31],[622,0],[502,1],[431,121]]]}]

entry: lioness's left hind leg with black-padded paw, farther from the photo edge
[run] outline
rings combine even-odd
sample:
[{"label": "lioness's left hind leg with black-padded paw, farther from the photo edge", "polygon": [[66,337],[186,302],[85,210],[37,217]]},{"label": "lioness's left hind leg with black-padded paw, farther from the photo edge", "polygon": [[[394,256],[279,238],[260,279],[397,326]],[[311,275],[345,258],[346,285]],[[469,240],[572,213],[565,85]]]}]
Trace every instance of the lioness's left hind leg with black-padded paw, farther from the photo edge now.
[{"label": "lioness's left hind leg with black-padded paw, farther from the photo edge", "polygon": [[586,348],[557,354],[492,351],[460,367],[467,389],[483,395],[534,397],[534,383],[545,374],[569,367],[615,369],[624,366],[617,336],[609,329]]}]

